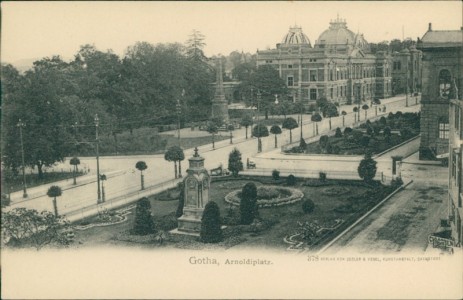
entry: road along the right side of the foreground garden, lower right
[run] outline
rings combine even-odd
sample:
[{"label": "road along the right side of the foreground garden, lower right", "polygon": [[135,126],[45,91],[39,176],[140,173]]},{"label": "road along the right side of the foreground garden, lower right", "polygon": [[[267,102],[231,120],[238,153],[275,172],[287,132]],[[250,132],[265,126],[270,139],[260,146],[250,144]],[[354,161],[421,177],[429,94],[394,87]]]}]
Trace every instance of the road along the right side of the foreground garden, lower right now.
[{"label": "road along the right side of the foreground garden, lower right", "polygon": [[436,232],[440,219],[447,214],[447,168],[412,163],[404,165],[404,181],[413,179],[414,182],[340,238],[324,254],[427,250],[428,236]]}]

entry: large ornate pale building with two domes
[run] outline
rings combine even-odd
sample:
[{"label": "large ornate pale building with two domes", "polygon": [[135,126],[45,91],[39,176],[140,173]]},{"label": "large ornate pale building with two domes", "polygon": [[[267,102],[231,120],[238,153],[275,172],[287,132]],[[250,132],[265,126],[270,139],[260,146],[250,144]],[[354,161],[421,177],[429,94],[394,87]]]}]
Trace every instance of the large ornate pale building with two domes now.
[{"label": "large ornate pale building with two domes", "polygon": [[265,64],[279,71],[293,102],[309,104],[326,98],[356,103],[392,94],[392,57],[384,52],[371,54],[363,34],[349,30],[339,17],[314,47],[300,27],[290,27],[276,49],[257,52],[257,65]]}]

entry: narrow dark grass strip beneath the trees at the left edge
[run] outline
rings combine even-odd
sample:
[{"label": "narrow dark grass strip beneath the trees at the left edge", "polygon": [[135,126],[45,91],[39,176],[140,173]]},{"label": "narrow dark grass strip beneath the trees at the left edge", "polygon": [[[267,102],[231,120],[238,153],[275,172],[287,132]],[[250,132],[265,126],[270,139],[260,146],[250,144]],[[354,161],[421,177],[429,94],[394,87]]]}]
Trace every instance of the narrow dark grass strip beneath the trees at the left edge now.
[{"label": "narrow dark grass strip beneath the trees at the left edge", "polygon": [[[85,175],[83,172],[78,172],[77,177]],[[28,188],[47,184],[50,182],[72,179],[72,172],[50,172],[43,173],[43,178],[39,178],[37,174],[26,174],[26,184]],[[2,178],[2,193],[13,193],[23,189],[23,177],[21,174],[5,174]]]}]

